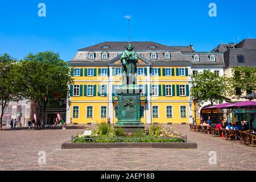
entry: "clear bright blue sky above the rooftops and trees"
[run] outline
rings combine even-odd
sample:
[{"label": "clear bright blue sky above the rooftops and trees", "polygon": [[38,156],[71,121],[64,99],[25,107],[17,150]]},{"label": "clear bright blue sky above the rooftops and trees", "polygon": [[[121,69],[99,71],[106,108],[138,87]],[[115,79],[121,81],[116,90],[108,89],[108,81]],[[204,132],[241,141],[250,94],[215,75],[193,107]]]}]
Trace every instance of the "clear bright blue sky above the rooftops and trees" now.
[{"label": "clear bright blue sky above the rooftops and trees", "polygon": [[[46,4],[46,17],[38,4]],[[208,15],[209,3],[217,17]],[[0,54],[22,59],[29,52],[59,52],[69,61],[77,49],[104,41],[154,41],[211,51],[218,44],[256,38],[255,0],[0,0]],[[237,38],[237,36],[239,38]]]}]

